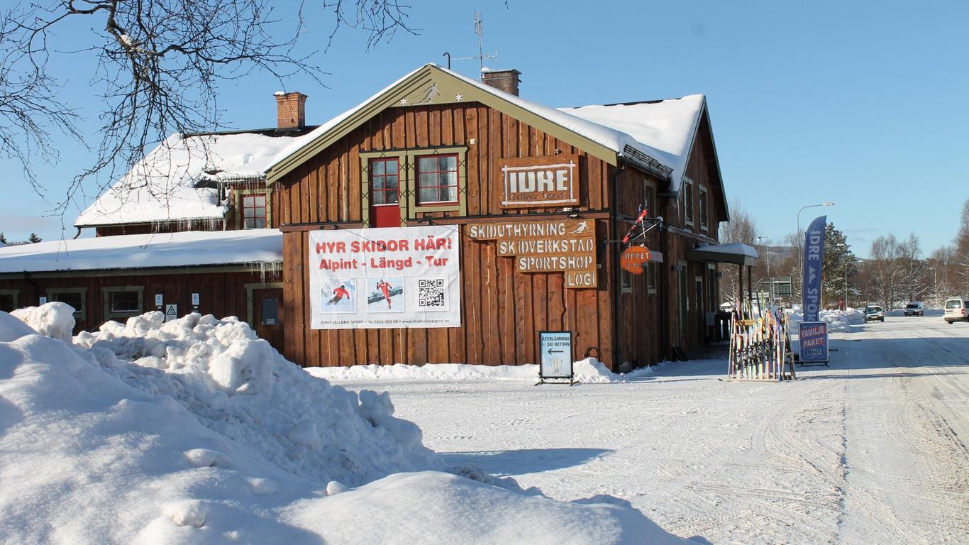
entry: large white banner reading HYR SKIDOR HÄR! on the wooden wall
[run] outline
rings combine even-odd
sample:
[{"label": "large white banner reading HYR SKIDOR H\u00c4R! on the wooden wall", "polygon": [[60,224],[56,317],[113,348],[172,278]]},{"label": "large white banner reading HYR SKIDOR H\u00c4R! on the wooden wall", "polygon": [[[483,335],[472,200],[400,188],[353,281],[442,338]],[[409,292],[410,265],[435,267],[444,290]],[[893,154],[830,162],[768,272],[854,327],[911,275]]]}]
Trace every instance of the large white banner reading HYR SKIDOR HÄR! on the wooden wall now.
[{"label": "large white banner reading HYR SKIDOR H\u00c4R! on the wooden wall", "polygon": [[459,239],[456,226],[310,231],[310,327],[459,327]]}]

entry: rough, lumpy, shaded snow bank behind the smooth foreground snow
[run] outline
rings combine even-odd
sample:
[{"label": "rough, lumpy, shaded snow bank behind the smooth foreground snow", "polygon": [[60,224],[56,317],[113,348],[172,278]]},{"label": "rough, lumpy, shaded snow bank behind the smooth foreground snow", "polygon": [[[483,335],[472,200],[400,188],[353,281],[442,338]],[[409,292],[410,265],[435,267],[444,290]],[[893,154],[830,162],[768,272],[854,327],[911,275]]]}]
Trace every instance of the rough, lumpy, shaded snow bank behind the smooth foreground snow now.
[{"label": "rough, lumpy, shaded snow bank behind the smooth foreground snow", "polygon": [[300,477],[358,486],[440,467],[422,447],[421,430],[392,416],[389,399],[307,380],[234,317],[164,319],[156,311],[124,325],[107,322],[77,342],[125,383],[171,396],[206,428]]}]

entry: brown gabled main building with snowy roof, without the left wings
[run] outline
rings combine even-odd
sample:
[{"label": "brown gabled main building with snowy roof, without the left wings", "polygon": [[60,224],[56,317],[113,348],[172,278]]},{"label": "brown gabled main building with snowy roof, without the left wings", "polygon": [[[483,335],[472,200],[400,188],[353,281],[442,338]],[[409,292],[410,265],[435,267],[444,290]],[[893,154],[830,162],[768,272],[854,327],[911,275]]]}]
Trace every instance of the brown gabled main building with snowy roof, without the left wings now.
[{"label": "brown gabled main building with snowy roof, without the left wings", "polygon": [[[513,203],[509,165],[562,161],[578,166],[571,200]],[[728,219],[702,95],[555,110],[428,64],[309,133],[266,180],[283,232],[286,356],[302,366],[535,363],[543,330],[572,332],[576,358],[641,366],[702,344],[719,304],[716,263],[688,253]],[[619,268],[620,240],[641,208],[651,229],[636,243],[654,259],[633,275]],[[522,272],[498,242],[471,236],[554,220],[591,221],[591,286]],[[310,233],[423,225],[459,226],[459,327],[314,329]]]}]

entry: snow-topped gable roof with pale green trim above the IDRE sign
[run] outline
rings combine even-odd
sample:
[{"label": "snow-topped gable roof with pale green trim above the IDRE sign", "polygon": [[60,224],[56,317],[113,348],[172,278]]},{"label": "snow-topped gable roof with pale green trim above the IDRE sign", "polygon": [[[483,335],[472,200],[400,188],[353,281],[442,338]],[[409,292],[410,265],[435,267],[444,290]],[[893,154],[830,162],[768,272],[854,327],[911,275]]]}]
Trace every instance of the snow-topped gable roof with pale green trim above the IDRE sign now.
[{"label": "snow-topped gable roof with pale green trim above the IDRE sign", "polygon": [[[608,120],[600,118],[610,111],[598,109],[611,107],[556,110],[437,65],[425,64],[282,149],[266,167],[266,181],[273,183],[285,176],[387,108],[453,104],[458,101],[476,101],[507,113],[610,165],[615,165],[619,158],[623,158],[646,172],[669,179],[677,165],[682,165],[681,174],[689,156],[689,145],[684,147],[675,143],[688,141],[692,144],[705,105],[703,95],[678,100],[682,102],[661,108],[636,109],[641,110],[638,114],[646,121],[641,124],[637,134],[631,134],[627,130],[629,127],[610,124]],[[656,142],[656,132],[664,127],[677,137],[665,137]],[[644,142],[640,139],[644,139]],[[684,157],[680,157],[680,153]],[[672,183],[678,187],[678,176]]]}]

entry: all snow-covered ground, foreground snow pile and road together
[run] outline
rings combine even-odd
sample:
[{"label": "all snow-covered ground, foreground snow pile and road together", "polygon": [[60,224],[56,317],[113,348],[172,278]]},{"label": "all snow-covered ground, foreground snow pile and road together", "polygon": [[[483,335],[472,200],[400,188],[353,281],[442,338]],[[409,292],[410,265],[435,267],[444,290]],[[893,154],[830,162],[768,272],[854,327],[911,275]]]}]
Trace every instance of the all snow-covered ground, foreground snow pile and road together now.
[{"label": "all snow-covered ground, foreground snow pile and road together", "polygon": [[969,324],[833,317],[831,367],[792,382],[583,361],[535,386],[305,372],[234,319],[71,339],[66,305],[16,315],[3,543],[969,542]]}]

